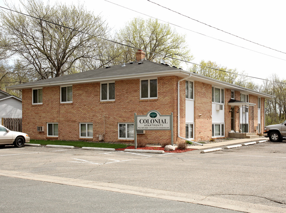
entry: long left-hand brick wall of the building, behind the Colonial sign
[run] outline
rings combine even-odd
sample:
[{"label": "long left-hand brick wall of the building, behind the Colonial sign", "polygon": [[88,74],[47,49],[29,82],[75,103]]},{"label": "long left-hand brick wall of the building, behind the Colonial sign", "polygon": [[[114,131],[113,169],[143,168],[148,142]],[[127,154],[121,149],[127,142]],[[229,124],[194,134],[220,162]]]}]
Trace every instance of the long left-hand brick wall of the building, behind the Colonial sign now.
[{"label": "long left-hand brick wall of the building, behind the Colonial sign", "polygon": [[[158,99],[140,100],[140,80],[121,80],[115,82],[115,101],[100,101],[100,83],[73,85],[73,103],[60,103],[60,87],[43,88],[43,104],[32,105],[32,89],[23,90],[23,131],[32,139],[51,139],[47,137],[47,122],[59,123],[58,140],[82,140],[79,138],[79,123],[93,123],[92,141],[96,135],[103,134],[104,141],[134,140],[118,139],[118,122],[134,122],[134,113],[145,115],[150,110],[160,114],[173,112],[174,143],[177,139],[177,82],[179,77],[158,78]],[[182,87],[182,86],[181,86]],[[184,91],[184,88],[181,88]],[[182,107],[184,102],[181,103]],[[181,112],[184,117],[184,112]],[[104,128],[105,122],[105,128]],[[37,132],[37,126],[44,126],[44,132]],[[171,131],[145,131],[137,134],[137,140],[148,143],[171,141]],[[86,139],[90,140],[90,139]]]}]

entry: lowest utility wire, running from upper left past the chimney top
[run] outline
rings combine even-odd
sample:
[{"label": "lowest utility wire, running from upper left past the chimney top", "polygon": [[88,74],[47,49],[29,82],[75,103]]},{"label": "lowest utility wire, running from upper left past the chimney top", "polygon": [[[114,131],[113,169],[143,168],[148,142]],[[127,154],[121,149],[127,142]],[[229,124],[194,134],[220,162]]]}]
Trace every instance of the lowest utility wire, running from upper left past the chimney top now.
[{"label": "lowest utility wire, running from upper left past the chimney top", "polygon": [[[12,11],[12,12],[16,12],[16,13],[19,13],[19,14],[22,14],[22,15],[25,15],[25,16],[29,16],[29,17],[31,17],[31,18],[35,18],[35,19],[38,19],[38,20],[41,20],[41,21],[44,21],[44,22],[48,22],[48,23],[50,23],[50,24],[54,24],[54,25],[57,25],[57,26],[60,26],[60,27],[63,27],[63,28],[67,28],[67,29],[70,29],[70,30],[74,30],[74,31],[77,31],[77,32],[79,32],[79,33],[84,33],[84,34],[87,34],[87,35],[91,35],[90,33],[86,33],[86,32],[83,32],[83,31],[81,31],[81,30],[76,30],[76,29],[73,29],[73,28],[70,28],[70,27],[66,27],[66,26],[64,26],[64,25],[60,25],[60,24],[57,24],[57,23],[54,23],[54,22],[51,22],[51,21],[47,21],[47,20],[44,20],[44,19],[41,19],[41,18],[38,18],[38,17],[34,17],[34,16],[31,16],[31,15],[28,15],[28,14],[25,14],[25,13],[22,13],[22,12],[18,12],[18,11],[12,10],[12,9],[8,9],[8,8],[1,7],[1,6],[0,6],[0,8],[7,9],[7,10],[10,10],[10,11]],[[114,42],[114,43],[117,43],[117,44],[119,44],[119,45],[127,46],[127,47],[130,47],[130,48],[133,48],[133,49],[141,49],[141,48],[138,48],[138,47],[129,46],[129,45],[126,45],[126,44],[123,44],[123,43],[119,43],[119,42],[116,42],[116,41],[112,41],[112,40],[109,40],[109,39],[106,39],[106,38],[101,38],[101,37],[96,36],[96,35],[91,35],[91,36],[94,36],[94,37],[96,37],[96,38],[103,39],[103,40],[105,40],[105,41]],[[143,50],[143,49],[142,49],[142,50]],[[205,67],[205,68],[209,68],[209,69],[213,69],[213,70],[218,70],[218,71],[222,71],[222,72],[227,72],[227,73],[231,73],[231,74],[235,74],[235,75],[241,75],[241,76],[245,76],[245,77],[249,77],[249,78],[256,78],[256,79],[260,79],[260,80],[271,81],[271,80],[267,80],[267,79],[263,79],[263,78],[257,78],[257,77],[252,77],[252,76],[243,75],[243,74],[237,74],[237,73],[233,73],[233,72],[229,72],[229,71],[225,71],[225,70],[219,70],[219,69],[216,69],[216,68],[207,67],[207,66],[204,66],[204,65],[196,64],[196,63],[189,62],[189,61],[185,61],[185,60],[182,60],[182,59],[177,59],[177,58],[170,57],[170,56],[165,56],[165,55],[158,54],[158,53],[151,52],[151,51],[147,51],[147,50],[143,50],[143,51],[145,51],[145,52],[150,52],[150,53],[152,53],[152,54],[157,54],[157,55],[160,55],[160,56],[163,56],[163,57],[168,57],[168,58],[171,58],[171,59],[174,59],[174,60],[179,60],[179,61],[182,61],[182,62],[186,62],[186,63],[190,63],[190,64],[195,64],[195,65],[198,65],[198,66],[201,66],[201,67]],[[282,83],[282,82],[278,82],[278,81],[271,81],[271,82]],[[286,84],[286,83],[283,83],[283,84]]]}]

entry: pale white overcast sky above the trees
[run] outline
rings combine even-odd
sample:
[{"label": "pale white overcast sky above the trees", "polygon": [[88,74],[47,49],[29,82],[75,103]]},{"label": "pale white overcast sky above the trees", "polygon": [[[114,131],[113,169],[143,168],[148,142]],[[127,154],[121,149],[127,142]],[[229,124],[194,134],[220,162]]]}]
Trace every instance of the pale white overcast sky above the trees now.
[{"label": "pale white overcast sky above the trees", "polygon": [[[19,4],[18,0],[12,0],[12,2],[13,1],[16,4]],[[249,76],[268,78],[272,73],[276,73],[280,78],[286,79],[285,53],[274,51],[227,33],[223,33],[150,2],[156,2],[192,19],[255,43],[286,52],[286,1],[108,1],[182,27],[180,28],[171,25],[178,33],[186,35],[189,49],[195,57],[192,61],[194,63],[199,64],[201,60],[210,60],[228,68],[237,68],[237,71],[239,72],[245,71]],[[80,1],[80,3],[84,4],[88,10],[93,11],[94,14],[101,13],[103,19],[107,21],[108,25],[113,28],[113,30],[122,28],[125,26],[126,22],[132,20],[134,17],[142,17],[144,19],[149,18],[148,16],[133,12],[108,1],[86,0]],[[50,2],[54,1],[50,0]],[[71,1],[62,0],[62,2],[70,4]],[[77,4],[77,1],[74,2]],[[3,0],[0,0],[0,6],[5,6]],[[183,28],[186,28],[187,30]],[[191,66],[191,64],[189,66]],[[186,69],[186,66],[183,68]],[[255,82],[262,83],[257,80]]]}]

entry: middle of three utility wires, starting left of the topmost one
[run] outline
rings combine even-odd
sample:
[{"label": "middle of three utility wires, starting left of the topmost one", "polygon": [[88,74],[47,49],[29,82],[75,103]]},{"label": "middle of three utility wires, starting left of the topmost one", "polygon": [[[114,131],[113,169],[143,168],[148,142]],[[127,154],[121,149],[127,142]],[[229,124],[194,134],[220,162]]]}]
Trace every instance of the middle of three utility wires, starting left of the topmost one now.
[{"label": "middle of three utility wires, starting left of the topmost one", "polygon": [[286,61],[286,59],[278,58],[278,57],[271,56],[271,55],[268,55],[268,54],[265,54],[265,53],[262,53],[262,52],[258,52],[258,51],[252,50],[252,49],[248,49],[248,48],[246,48],[246,47],[239,46],[239,45],[237,45],[237,44],[233,44],[233,43],[230,43],[230,42],[227,42],[227,41],[223,41],[223,40],[221,40],[221,39],[214,38],[214,37],[211,37],[211,36],[209,36],[209,35],[205,35],[205,34],[203,34],[203,33],[199,33],[199,32],[196,32],[196,31],[193,31],[193,30],[190,30],[190,29],[181,27],[181,26],[179,26],[179,25],[172,24],[172,23],[170,23],[170,22],[166,22],[166,21],[164,21],[164,20],[161,20],[161,19],[152,17],[152,16],[147,15],[147,14],[144,14],[144,13],[142,13],[142,12],[138,12],[138,11],[133,10],[133,9],[130,9],[130,8],[128,8],[128,7],[121,6],[121,5],[119,5],[119,4],[113,3],[113,2],[108,1],[108,0],[104,0],[104,1],[107,1],[107,2],[109,2],[109,3],[111,3],[111,4],[115,4],[115,5],[119,6],[119,7],[123,7],[123,8],[128,9],[128,10],[131,10],[131,11],[133,11],[133,12],[136,12],[136,13],[139,13],[139,14],[142,14],[142,15],[145,15],[145,16],[148,16],[148,17],[150,17],[150,18],[157,19],[157,20],[162,21],[162,22],[165,22],[165,23],[167,23],[167,24],[174,25],[174,26],[179,27],[179,28],[182,28],[182,29],[184,29],[184,30],[188,30],[188,31],[191,31],[191,32],[193,32],[193,33],[197,33],[197,34],[200,34],[200,35],[204,35],[204,36],[206,36],[206,37],[208,37],[208,38],[213,38],[213,39],[215,39],[215,40],[218,40],[218,41],[221,41],[221,42],[224,42],[224,43],[228,43],[228,44],[231,44],[231,45],[234,45],[234,46],[243,48],[243,49],[247,49],[247,50],[250,50],[250,51],[253,51],[253,52],[256,52],[256,53],[260,53],[260,54],[263,54],[263,55],[266,55],[266,56],[270,56],[270,57],[273,57],[273,58],[277,58],[277,59],[281,59],[281,60],[283,60],[283,61]]}]

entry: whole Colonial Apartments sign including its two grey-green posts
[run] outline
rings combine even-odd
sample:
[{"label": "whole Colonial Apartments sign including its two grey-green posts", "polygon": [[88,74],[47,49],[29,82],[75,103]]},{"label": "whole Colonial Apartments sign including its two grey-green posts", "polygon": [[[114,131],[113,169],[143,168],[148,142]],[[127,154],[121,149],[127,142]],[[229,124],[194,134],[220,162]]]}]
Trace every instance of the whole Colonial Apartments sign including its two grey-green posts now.
[{"label": "whole Colonial Apartments sign including its two grey-green posts", "polygon": [[173,112],[170,115],[161,115],[156,110],[146,115],[134,113],[134,143],[137,149],[137,130],[171,130],[171,145],[173,146]]}]

